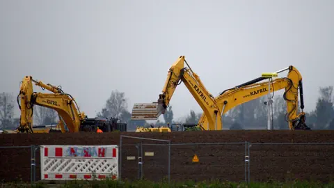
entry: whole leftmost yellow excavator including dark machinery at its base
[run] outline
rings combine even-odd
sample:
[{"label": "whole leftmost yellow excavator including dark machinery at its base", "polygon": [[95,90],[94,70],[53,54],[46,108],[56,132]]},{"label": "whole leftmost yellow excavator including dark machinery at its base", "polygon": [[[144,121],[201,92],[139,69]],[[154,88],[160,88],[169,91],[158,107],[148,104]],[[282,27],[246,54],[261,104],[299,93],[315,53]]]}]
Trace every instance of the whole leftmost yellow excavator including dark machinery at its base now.
[{"label": "whole leftmost yellow excavator including dark machinery at its base", "polygon": [[[33,92],[33,83],[40,86],[44,91],[47,89],[52,93],[36,93]],[[100,127],[104,132],[110,130],[126,131],[126,123],[117,123],[111,118],[88,118],[84,112],[79,110],[77,102],[74,98],[64,93],[61,86],[53,86],[44,84],[42,81],[36,81],[31,76],[26,76],[20,85],[19,95],[17,95],[17,104],[21,111],[19,127],[17,132],[33,133],[33,106],[38,105],[54,109],[58,112],[59,122],[58,127],[61,127],[61,132],[96,132],[97,127]],[[120,127],[122,125],[122,127]]]}]

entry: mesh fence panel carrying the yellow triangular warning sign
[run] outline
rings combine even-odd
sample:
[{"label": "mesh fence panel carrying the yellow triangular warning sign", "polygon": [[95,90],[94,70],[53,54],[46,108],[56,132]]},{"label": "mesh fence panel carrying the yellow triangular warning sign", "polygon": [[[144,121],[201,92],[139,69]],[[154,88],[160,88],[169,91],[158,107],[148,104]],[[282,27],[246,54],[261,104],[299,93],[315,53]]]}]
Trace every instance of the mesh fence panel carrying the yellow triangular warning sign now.
[{"label": "mesh fence panel carrying the yellow triangular warning sign", "polygon": [[246,143],[171,144],[171,180],[246,181]]}]

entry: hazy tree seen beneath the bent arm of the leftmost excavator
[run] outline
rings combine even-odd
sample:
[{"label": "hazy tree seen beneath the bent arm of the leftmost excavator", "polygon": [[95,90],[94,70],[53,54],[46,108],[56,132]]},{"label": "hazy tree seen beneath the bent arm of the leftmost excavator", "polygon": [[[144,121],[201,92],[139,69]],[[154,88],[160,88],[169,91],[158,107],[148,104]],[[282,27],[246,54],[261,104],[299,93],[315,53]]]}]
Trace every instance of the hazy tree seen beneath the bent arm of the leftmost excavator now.
[{"label": "hazy tree seen beneath the bent arm of the leftmost excavator", "polygon": [[[47,107],[33,106],[33,116],[37,120],[38,125],[51,125],[52,123],[58,123],[58,113],[54,109]],[[34,123],[35,125],[37,123]]]}]

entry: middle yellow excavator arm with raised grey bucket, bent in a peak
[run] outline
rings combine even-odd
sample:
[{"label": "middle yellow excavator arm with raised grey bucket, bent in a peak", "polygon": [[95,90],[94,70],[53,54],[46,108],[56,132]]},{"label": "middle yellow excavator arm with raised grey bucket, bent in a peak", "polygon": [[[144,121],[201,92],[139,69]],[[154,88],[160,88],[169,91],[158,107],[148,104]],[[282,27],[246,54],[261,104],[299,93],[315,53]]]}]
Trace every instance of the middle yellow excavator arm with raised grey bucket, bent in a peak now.
[{"label": "middle yellow excavator arm with raised grey bucket, bent in a peak", "polygon": [[[184,63],[188,67],[185,68]],[[134,104],[132,120],[157,120],[161,114],[165,113],[176,87],[181,82],[188,88],[191,95],[204,111],[210,125],[209,128],[212,130],[219,129],[221,125],[221,112],[218,109],[216,101],[202,84],[200,77],[191,70],[185,60],[185,56],[180,56],[169,69],[164,88],[157,102]]]}]

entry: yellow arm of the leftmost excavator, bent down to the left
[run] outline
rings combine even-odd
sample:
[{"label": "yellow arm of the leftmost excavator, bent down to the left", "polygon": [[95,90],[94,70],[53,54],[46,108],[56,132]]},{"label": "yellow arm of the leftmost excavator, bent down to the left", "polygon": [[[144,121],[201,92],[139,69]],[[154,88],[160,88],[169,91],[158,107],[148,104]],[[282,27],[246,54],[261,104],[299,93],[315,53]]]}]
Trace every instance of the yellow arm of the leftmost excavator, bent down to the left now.
[{"label": "yellow arm of the leftmost excavator, bent down to the left", "polygon": [[[36,93],[33,92],[33,84],[45,88],[52,93]],[[19,102],[19,100],[21,100]],[[33,132],[33,105],[37,104],[42,107],[54,109],[60,116],[61,131],[65,132],[62,120],[67,125],[70,132],[79,132],[80,122],[86,115],[80,112],[74,98],[64,93],[60,87],[44,84],[42,81],[35,81],[32,77],[24,77],[17,103],[21,110],[20,125],[17,128],[19,132]]]}]

